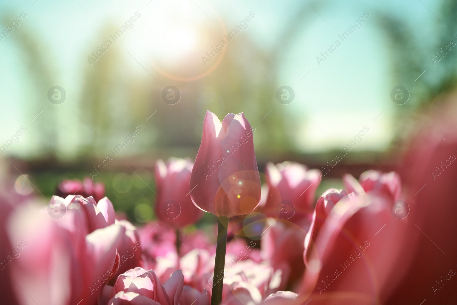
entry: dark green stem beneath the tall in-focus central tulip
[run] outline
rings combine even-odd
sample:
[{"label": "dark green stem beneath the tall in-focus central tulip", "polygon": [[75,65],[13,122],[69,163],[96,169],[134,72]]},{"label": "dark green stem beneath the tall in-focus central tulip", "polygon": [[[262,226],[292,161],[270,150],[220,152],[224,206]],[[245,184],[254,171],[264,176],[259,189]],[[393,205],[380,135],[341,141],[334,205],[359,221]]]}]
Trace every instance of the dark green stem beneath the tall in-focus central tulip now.
[{"label": "dark green stem beneath the tall in-focus central tulip", "polygon": [[214,261],[213,293],[211,305],[219,305],[222,302],[222,288],[225,267],[225,249],[227,248],[228,217],[218,218],[218,241],[216,244],[216,260]]}]

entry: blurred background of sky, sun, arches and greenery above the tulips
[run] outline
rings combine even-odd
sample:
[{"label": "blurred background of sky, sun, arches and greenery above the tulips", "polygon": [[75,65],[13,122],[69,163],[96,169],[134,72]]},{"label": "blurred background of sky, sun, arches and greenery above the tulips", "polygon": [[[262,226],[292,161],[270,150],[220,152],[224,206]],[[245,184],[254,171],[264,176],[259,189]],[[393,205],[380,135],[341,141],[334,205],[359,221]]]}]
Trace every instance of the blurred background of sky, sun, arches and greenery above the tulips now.
[{"label": "blurred background of sky, sun, arches and greenery above the tulips", "polygon": [[[342,156],[319,196],[343,172],[392,168],[414,122],[452,94],[456,16],[450,0],[0,1],[1,170],[18,193],[46,199],[63,179],[93,176],[144,223],[155,160],[195,158],[206,110],[244,112],[260,171],[286,160],[322,170]],[[56,104],[53,86],[63,88]],[[174,105],[167,86],[180,91]],[[292,102],[278,102],[281,86]],[[409,91],[402,105],[396,86]]]}]

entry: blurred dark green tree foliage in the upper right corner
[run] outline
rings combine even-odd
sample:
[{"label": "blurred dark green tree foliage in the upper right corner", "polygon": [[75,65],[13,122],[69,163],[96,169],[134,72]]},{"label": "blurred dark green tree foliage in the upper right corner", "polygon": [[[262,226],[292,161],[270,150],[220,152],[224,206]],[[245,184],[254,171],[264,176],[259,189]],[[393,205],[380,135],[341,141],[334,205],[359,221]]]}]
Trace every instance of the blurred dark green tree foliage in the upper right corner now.
[{"label": "blurred dark green tree foliage in the upper right corner", "polygon": [[456,88],[457,50],[452,43],[457,46],[457,1],[443,0],[439,5],[441,14],[435,16],[432,37],[418,34],[401,15],[384,12],[378,17],[389,45],[393,86],[405,86],[410,93],[409,101],[397,107],[397,134],[392,147],[404,146],[409,129],[415,126],[410,118],[419,117],[417,110],[427,108],[440,100],[437,96]]}]

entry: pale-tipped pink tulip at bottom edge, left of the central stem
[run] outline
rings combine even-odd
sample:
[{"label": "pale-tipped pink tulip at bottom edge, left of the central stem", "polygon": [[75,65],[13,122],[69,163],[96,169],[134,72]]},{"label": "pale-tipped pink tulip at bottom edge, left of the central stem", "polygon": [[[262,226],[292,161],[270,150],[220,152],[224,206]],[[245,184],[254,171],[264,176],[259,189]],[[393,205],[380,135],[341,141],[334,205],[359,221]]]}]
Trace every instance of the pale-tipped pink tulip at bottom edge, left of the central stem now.
[{"label": "pale-tipped pink tulip at bottom edge, left of the central stem", "polygon": [[178,305],[183,286],[179,270],[162,285],[154,271],[137,267],[119,275],[107,305]]}]

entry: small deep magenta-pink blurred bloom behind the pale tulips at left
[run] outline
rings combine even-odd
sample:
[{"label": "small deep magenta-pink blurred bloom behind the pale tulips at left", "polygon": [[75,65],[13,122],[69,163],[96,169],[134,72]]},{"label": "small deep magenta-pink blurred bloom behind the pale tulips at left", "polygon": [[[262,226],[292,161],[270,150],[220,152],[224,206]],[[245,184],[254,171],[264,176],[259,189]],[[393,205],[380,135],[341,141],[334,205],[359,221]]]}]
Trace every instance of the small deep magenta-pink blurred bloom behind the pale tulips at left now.
[{"label": "small deep magenta-pink blurred bloom behind the pale tulips at left", "polygon": [[84,198],[92,196],[98,202],[105,196],[105,184],[103,182],[94,183],[89,177],[85,177],[83,182],[80,180],[64,180],[59,183],[56,194],[63,198],[68,195],[80,195]]}]

